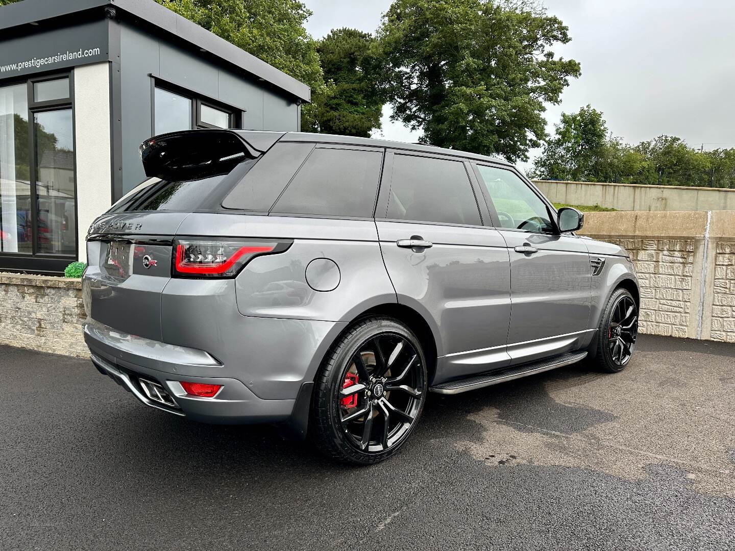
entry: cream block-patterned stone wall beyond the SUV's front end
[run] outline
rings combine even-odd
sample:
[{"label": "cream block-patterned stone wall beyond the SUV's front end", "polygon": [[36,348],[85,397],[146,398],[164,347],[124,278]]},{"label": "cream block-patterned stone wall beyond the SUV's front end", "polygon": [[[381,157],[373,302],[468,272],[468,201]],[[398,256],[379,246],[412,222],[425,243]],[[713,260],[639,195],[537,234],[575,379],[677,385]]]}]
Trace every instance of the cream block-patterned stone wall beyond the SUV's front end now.
[{"label": "cream block-patterned stone wall beyond the SUV's front end", "polygon": [[735,342],[735,212],[588,212],[634,259],[641,333]]}]

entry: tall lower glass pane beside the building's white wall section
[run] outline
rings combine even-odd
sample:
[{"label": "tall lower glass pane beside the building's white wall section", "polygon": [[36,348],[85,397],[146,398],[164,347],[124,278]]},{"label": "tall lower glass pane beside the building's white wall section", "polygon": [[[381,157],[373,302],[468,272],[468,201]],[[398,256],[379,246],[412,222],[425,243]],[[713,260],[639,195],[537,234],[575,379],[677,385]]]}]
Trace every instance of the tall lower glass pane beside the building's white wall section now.
[{"label": "tall lower glass pane beside the building's white wall section", "polygon": [[76,253],[71,109],[35,113],[37,251]]}]

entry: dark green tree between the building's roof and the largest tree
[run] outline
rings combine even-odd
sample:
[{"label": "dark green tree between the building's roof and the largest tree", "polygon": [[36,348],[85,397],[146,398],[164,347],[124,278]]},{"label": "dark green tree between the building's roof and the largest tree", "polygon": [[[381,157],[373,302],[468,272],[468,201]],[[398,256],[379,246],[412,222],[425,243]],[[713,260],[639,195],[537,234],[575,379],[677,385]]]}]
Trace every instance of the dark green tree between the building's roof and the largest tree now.
[{"label": "dark green tree between the building's roof and the largest tree", "polygon": [[356,29],[332,29],[317,51],[331,94],[316,106],[319,132],[370,137],[380,128],[383,101],[376,91],[370,47],[375,39]]}]

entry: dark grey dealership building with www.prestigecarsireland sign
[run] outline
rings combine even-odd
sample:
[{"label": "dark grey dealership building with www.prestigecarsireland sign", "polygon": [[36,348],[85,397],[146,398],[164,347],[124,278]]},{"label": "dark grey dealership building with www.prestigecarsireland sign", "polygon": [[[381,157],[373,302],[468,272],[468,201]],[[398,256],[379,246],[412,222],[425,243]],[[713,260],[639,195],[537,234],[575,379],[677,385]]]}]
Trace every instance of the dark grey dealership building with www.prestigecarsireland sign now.
[{"label": "dark grey dealership building with www.prestigecarsireland sign", "polygon": [[138,146],[196,128],[298,131],[306,84],[153,0],[0,7],[0,271],[85,261],[145,179]]}]

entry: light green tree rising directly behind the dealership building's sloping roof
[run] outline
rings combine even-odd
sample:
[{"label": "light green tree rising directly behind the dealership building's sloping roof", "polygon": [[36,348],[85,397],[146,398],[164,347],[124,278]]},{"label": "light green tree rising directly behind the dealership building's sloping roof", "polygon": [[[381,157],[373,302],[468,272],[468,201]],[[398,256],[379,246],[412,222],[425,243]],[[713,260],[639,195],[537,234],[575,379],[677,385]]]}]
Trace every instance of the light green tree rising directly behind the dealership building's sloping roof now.
[{"label": "light green tree rising directly behind the dealership building's sloping roof", "polygon": [[298,0],[156,0],[238,48],[308,84],[314,103],[301,108],[301,126],[315,129],[316,104],[329,93],[317,42],[304,22],[312,12]]}]

